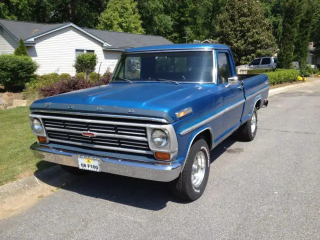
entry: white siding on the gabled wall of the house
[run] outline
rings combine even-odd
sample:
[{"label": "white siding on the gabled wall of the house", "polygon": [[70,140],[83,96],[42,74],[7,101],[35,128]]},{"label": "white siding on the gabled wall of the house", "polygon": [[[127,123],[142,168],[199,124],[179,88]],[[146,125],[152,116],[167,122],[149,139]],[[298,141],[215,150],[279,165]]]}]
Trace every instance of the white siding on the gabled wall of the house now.
[{"label": "white siding on the gabled wall of the house", "polygon": [[28,55],[37,61],[37,74],[50,72],[75,74],[72,66],[75,60],[75,49],[94,50],[98,63],[97,72],[101,63],[100,73],[109,67],[113,71],[120,52],[102,49],[102,43],[75,29],[72,26],[54,31],[36,38],[35,46],[27,47]]}]

